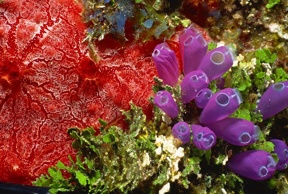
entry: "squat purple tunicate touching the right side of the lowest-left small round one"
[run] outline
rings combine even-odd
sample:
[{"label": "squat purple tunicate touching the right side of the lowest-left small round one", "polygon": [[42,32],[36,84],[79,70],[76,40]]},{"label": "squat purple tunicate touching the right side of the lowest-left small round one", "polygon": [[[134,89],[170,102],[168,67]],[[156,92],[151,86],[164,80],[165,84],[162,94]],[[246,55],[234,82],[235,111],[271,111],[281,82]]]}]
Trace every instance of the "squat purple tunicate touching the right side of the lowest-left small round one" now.
[{"label": "squat purple tunicate touching the right side of the lowest-left small round one", "polygon": [[209,150],[216,143],[216,136],[208,127],[190,125],[193,143],[198,149]]}]

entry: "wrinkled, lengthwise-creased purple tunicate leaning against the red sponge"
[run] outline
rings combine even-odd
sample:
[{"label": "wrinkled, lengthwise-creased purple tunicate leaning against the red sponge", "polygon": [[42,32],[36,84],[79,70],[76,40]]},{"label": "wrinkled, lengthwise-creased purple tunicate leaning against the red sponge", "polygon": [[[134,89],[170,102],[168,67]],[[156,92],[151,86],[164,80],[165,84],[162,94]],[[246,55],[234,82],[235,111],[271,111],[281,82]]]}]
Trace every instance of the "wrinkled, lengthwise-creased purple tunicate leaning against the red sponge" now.
[{"label": "wrinkled, lengthwise-creased purple tunicate leaning against the red sponge", "polygon": [[152,53],[159,78],[165,85],[174,87],[178,81],[179,66],[175,52],[164,42],[158,44]]}]

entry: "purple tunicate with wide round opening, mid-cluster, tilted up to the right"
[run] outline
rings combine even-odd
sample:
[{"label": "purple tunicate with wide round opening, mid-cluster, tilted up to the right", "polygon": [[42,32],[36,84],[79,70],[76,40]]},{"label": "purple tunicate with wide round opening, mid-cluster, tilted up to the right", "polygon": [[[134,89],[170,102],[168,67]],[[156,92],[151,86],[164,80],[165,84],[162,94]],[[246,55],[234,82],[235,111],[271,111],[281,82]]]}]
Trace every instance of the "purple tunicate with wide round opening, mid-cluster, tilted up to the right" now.
[{"label": "purple tunicate with wide round opening, mid-cluster, tilted up to the right", "polygon": [[220,121],[239,108],[243,102],[242,96],[237,88],[226,88],[214,94],[200,115],[202,124]]}]

